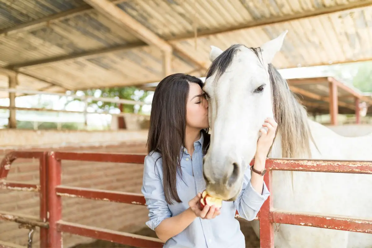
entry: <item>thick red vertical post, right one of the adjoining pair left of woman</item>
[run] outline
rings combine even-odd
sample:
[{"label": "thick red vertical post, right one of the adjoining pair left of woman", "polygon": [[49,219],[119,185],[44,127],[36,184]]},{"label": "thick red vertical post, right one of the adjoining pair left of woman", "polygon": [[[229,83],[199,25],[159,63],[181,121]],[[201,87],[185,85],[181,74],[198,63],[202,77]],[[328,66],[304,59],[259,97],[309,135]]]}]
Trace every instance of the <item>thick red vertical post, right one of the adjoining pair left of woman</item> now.
[{"label": "thick red vertical post, right one of the adjoining pair left of woman", "polygon": [[62,199],[56,188],[61,184],[61,161],[54,152],[48,155],[48,247],[62,247],[62,233],[57,230],[57,222],[62,218]]}]

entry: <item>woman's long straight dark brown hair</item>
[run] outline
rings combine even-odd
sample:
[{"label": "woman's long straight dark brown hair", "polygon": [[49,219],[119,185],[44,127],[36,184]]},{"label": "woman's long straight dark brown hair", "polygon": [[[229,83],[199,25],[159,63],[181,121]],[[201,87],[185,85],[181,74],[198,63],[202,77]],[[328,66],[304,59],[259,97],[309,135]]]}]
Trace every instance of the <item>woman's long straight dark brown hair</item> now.
[{"label": "woman's long straight dark brown hair", "polygon": [[[151,104],[147,150],[148,154],[159,152],[163,159],[163,187],[168,204],[172,200],[182,202],[177,193],[176,176],[177,170],[181,173],[181,148],[185,146],[189,83],[203,88],[202,80],[191,75],[177,73],[165,77],[156,87]],[[210,141],[208,129],[203,129],[202,135],[205,154]]]}]

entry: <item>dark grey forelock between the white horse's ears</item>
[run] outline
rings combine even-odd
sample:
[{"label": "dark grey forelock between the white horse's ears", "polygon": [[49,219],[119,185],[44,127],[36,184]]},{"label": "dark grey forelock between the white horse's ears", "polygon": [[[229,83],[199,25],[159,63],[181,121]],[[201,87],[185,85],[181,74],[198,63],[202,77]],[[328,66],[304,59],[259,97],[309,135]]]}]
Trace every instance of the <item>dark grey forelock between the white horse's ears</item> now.
[{"label": "dark grey forelock between the white horse's ears", "polygon": [[[231,65],[232,59],[234,59],[234,55],[239,50],[239,48],[241,48],[242,46],[244,45],[234,44],[234,45],[231,45],[229,48],[227,48],[224,52],[222,52],[222,54],[220,54],[212,62],[211,66],[208,68],[208,71],[206,73],[206,78],[209,78],[213,74],[217,73],[216,80],[218,80],[218,78],[221,77],[221,75],[225,73],[227,68]],[[257,58],[259,58],[259,60],[261,61],[260,58],[262,56],[261,57],[259,56],[259,53],[261,52],[261,48],[259,47],[253,48],[253,47],[247,47],[247,46],[244,46],[244,47],[251,49],[251,51],[254,52],[254,54],[257,55]]]}]

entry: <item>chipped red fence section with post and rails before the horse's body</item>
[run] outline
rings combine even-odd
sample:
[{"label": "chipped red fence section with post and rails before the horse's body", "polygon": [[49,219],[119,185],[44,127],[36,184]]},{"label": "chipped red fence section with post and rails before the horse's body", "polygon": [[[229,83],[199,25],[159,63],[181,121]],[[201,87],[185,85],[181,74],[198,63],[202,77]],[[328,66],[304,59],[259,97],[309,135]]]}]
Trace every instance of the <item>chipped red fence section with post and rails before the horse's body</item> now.
[{"label": "chipped red fence section with post and rails before the horse's body", "polygon": [[[372,174],[372,161],[267,159],[266,169],[268,173],[264,175],[264,181],[269,191],[272,192],[273,170]],[[263,203],[259,214],[261,247],[274,247],[272,223],[372,233],[371,219],[357,219],[349,216],[325,216],[316,213],[282,212],[273,208],[272,196],[269,196]]]}]

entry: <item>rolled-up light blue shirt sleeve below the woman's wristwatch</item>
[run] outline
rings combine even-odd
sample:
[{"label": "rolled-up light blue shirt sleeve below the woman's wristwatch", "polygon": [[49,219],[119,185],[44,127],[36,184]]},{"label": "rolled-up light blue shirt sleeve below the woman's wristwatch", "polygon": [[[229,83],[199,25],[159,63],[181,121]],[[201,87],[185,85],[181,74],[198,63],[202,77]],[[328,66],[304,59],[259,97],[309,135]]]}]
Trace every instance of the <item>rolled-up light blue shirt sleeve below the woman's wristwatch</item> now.
[{"label": "rolled-up light blue shirt sleeve below the woman's wristwatch", "polygon": [[262,194],[257,193],[253,188],[251,184],[251,170],[248,167],[244,173],[243,189],[237,199],[235,199],[234,205],[242,218],[253,220],[269,195],[270,192],[265,182],[263,183]]}]

